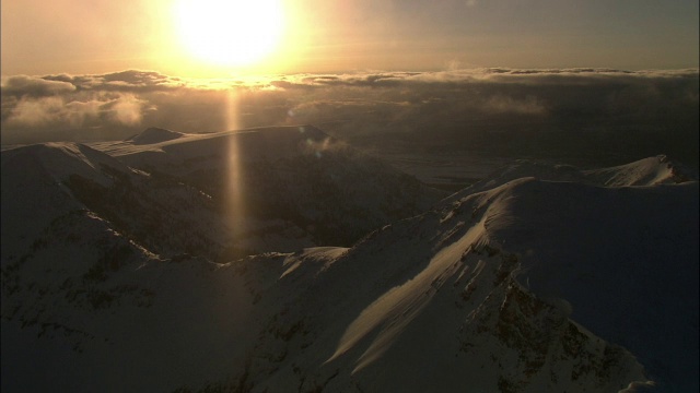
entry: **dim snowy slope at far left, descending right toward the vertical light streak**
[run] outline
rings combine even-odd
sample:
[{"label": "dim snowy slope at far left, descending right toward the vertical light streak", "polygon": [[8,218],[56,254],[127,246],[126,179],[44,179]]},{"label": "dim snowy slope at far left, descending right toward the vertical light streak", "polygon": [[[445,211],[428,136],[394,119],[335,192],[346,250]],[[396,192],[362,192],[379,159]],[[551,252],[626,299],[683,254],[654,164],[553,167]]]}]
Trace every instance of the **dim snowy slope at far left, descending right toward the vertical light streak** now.
[{"label": "dim snowy slope at far left, descending right toward the vertical light streak", "polygon": [[215,258],[232,238],[201,191],[132,169],[85,145],[3,151],[2,164],[3,240],[21,246],[12,252],[3,248],[3,254],[25,252],[23,239],[52,230],[50,224],[62,216],[72,217],[71,227],[80,226],[78,217],[85,214],[164,257],[190,252]]}]

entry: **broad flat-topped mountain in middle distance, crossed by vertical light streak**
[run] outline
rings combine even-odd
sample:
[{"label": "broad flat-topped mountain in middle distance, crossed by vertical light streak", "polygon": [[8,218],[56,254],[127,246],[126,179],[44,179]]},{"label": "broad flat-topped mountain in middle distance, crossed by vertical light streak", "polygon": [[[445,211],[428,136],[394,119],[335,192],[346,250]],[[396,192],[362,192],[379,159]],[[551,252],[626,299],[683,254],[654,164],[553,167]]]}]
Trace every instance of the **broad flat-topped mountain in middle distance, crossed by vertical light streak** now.
[{"label": "broad flat-topped mountain in middle distance, crossed by vertical light streak", "polygon": [[[305,235],[313,243],[350,246],[445,195],[311,126],[211,134],[149,129],[124,142],[92,146],[201,190],[237,231],[269,234],[260,222],[273,222],[267,226],[285,227],[278,238]],[[250,239],[238,243],[244,251],[282,251]]]}]

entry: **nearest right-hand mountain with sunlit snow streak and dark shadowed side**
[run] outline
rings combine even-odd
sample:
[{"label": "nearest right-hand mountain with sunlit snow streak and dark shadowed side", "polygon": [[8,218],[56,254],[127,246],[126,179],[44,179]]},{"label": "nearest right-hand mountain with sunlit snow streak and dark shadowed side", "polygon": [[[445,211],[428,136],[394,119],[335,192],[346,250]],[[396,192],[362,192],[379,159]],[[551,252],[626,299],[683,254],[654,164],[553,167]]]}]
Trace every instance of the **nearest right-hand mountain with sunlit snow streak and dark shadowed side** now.
[{"label": "nearest right-hand mountain with sunlit snow streak and dark shadowed side", "polygon": [[[318,334],[342,332],[334,335],[335,350],[327,350],[328,338],[322,354],[313,360],[304,354],[291,367],[320,364],[305,386],[323,381],[330,391],[598,392],[621,389],[606,378],[643,379],[635,360],[590,325],[633,348],[658,391],[692,391],[697,198],[697,182],[604,189],[522,179],[465,192],[374,234],[330,266],[319,284],[327,290],[319,291],[332,293],[330,302],[355,317],[329,311],[331,327]],[[591,199],[607,210],[581,210]],[[562,219],[572,210],[579,221]],[[654,241],[666,236],[673,247]],[[283,391],[292,374],[280,371],[280,381],[264,386]]]}]

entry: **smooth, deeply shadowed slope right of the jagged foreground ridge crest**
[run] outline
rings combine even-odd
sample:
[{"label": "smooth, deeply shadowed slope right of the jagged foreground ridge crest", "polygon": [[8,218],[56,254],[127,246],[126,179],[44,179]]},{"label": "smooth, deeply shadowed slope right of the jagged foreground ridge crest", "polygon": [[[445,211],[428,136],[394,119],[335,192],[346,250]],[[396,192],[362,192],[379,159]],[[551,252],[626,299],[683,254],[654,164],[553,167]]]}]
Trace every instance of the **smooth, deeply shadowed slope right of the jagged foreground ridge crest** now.
[{"label": "smooth, deeply shadowed slope right of the jagged foreground ridge crest", "polygon": [[518,281],[565,299],[574,320],[632,350],[650,376],[697,390],[698,182],[512,188],[489,229],[523,255]]}]

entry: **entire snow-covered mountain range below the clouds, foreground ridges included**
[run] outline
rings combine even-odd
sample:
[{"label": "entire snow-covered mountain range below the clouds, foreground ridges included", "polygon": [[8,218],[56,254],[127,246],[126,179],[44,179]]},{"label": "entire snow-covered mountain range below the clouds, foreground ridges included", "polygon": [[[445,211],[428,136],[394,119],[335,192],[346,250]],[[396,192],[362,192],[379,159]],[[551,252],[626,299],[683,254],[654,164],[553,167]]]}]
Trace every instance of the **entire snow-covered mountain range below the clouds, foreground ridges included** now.
[{"label": "entire snow-covered mountain range below the clouds, foreground ridges included", "polygon": [[[3,391],[698,388],[698,182],[661,157],[520,162],[434,203],[313,128],[147,132],[2,152]],[[241,223],[234,164],[245,198],[298,212],[245,219],[296,250],[211,251]]]}]

